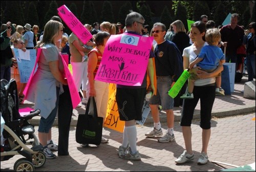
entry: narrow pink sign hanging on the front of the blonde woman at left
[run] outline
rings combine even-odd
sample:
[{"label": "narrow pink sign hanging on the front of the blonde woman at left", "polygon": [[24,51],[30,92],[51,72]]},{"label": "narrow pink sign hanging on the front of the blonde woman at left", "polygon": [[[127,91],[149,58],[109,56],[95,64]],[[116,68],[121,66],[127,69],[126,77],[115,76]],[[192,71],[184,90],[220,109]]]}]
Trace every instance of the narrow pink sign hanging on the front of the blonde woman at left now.
[{"label": "narrow pink sign hanging on the front of the blonde woman at left", "polygon": [[73,109],[75,109],[77,104],[79,104],[79,102],[81,101],[81,99],[80,99],[80,96],[79,96],[78,91],[76,89],[74,79],[73,79],[73,77],[72,77],[72,75],[69,71],[68,65],[64,62],[65,59],[63,58],[62,55],[61,55],[61,58],[62,58],[62,61],[63,61],[65,75],[66,75],[66,78],[67,78],[68,84],[69,84],[69,91],[70,91],[70,96],[71,96],[71,100],[72,100]]}]

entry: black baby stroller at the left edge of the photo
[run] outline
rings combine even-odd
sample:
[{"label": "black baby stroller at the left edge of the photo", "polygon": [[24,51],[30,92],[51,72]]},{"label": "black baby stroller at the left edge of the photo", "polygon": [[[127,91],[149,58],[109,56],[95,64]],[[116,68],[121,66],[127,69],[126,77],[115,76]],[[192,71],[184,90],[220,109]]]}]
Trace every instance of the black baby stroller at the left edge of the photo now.
[{"label": "black baby stroller at the left edge of the photo", "polygon": [[[34,126],[28,120],[40,114],[40,110],[20,116],[18,112],[17,84],[14,79],[8,82],[1,80],[1,115],[5,120],[4,131],[1,134],[1,161],[6,161],[14,155],[25,158],[18,159],[13,166],[15,171],[34,171],[46,162],[46,156],[41,152],[42,145],[35,136]],[[26,139],[25,139],[26,138]],[[32,145],[29,148],[27,145]]]}]

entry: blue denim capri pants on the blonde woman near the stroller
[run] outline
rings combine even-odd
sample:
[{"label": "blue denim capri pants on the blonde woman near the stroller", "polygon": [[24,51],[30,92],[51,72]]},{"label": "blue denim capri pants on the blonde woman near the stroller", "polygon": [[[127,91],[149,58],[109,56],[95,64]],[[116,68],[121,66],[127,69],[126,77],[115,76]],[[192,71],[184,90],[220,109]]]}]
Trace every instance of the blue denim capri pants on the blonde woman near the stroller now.
[{"label": "blue denim capri pants on the blonde woman near the stroller", "polygon": [[52,128],[53,122],[57,115],[58,104],[59,104],[59,87],[56,87],[56,96],[57,100],[55,103],[55,107],[47,118],[41,117],[38,132],[40,133],[49,133],[49,130]]}]

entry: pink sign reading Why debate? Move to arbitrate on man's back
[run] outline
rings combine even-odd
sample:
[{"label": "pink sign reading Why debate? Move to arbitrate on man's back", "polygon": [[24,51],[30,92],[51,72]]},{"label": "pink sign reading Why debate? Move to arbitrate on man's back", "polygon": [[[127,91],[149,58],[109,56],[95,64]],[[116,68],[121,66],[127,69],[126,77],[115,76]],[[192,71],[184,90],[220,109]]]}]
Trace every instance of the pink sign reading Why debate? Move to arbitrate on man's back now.
[{"label": "pink sign reading Why debate? Move to arbitrate on man's back", "polygon": [[95,79],[122,85],[141,85],[152,42],[153,37],[129,33],[111,35]]}]

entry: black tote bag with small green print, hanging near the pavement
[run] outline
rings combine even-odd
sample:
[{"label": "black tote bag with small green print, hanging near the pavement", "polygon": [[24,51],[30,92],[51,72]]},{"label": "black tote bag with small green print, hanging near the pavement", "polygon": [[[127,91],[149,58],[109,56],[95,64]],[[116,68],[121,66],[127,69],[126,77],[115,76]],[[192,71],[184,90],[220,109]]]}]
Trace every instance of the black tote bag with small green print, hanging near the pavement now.
[{"label": "black tote bag with small green print, hanging near the pavement", "polygon": [[103,118],[98,117],[94,97],[90,97],[86,114],[79,114],[76,125],[76,142],[99,145],[102,137]]}]

